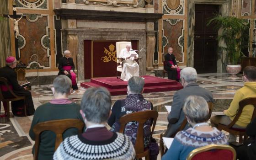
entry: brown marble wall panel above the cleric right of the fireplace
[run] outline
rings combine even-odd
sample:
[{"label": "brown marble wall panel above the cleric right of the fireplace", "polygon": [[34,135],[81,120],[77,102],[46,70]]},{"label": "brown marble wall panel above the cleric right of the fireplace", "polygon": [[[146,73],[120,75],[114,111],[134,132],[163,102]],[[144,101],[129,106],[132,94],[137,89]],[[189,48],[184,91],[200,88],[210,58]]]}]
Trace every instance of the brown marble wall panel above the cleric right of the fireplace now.
[{"label": "brown marble wall panel above the cleric right of the fireplace", "polygon": [[173,48],[173,54],[176,59],[180,62],[183,62],[183,46],[184,46],[184,37],[183,37],[183,46],[182,36],[184,28],[184,20],[179,19],[164,19],[163,20],[163,35],[167,38],[167,44],[163,47],[163,53],[168,53],[168,47]]}]

